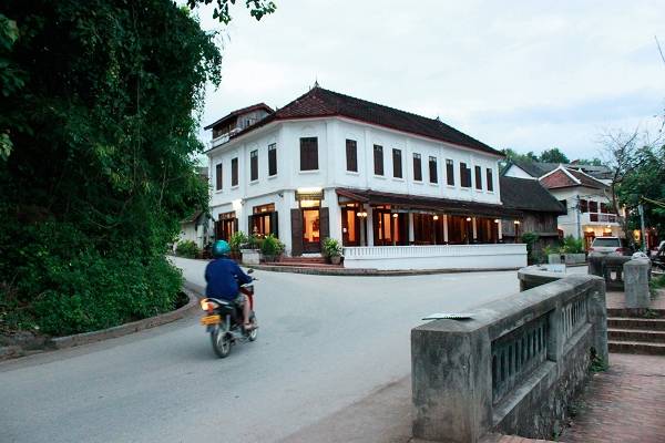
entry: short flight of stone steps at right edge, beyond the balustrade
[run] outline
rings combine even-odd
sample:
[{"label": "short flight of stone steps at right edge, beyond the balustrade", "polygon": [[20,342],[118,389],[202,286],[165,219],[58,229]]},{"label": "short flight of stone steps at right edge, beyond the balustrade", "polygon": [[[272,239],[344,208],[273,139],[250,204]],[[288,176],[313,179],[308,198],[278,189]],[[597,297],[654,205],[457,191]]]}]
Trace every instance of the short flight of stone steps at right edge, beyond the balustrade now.
[{"label": "short flight of stone steps at right edge, beyond the balustrade", "polygon": [[628,309],[607,309],[607,346],[610,352],[665,356],[665,310],[648,311],[651,317],[636,317]]}]

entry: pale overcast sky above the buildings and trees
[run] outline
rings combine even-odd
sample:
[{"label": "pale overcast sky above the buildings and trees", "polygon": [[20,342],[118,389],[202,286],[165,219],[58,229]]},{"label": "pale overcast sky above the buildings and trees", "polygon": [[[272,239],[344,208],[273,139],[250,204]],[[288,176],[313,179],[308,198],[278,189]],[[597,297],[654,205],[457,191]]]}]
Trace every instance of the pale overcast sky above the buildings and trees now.
[{"label": "pale overcast sky above the buildings and trees", "polygon": [[556,146],[573,159],[596,156],[608,128],[655,127],[665,107],[663,1],[275,2],[256,22],[238,0],[228,27],[198,10],[224,40],[204,125],[258,102],[284,106],[317,79],[499,150]]}]

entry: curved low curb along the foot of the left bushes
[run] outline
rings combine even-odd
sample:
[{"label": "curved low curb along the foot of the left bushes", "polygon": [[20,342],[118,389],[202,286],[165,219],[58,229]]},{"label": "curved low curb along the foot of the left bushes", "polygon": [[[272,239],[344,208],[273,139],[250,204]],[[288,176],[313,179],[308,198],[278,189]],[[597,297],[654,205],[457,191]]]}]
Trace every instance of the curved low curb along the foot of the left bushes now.
[{"label": "curved low curb along the foot of the left bushes", "polygon": [[132,321],[131,323],[124,323],[115,326],[109,329],[102,329],[101,331],[75,333],[73,336],[57,337],[49,340],[48,346],[53,349],[66,349],[78,347],[81,344],[94,343],[96,341],[114,339],[130,333],[139,332],[145,329],[155,328],[157,326],[171,323],[175,320],[187,317],[198,309],[198,298],[201,297],[197,292],[183,286],[183,292],[187,295],[190,301],[187,305],[177,308],[174,311],[165,312],[160,316],[150,317],[143,320]]}]

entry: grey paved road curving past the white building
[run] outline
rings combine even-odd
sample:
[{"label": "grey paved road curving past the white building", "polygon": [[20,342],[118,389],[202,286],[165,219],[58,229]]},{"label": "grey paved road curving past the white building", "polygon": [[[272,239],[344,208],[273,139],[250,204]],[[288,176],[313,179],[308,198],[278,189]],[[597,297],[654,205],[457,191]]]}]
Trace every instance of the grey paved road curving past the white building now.
[{"label": "grey paved road curving past the white building", "polygon": [[[205,262],[176,259],[203,284]],[[270,442],[409,374],[424,315],[518,290],[516,272],[257,271],[254,343],[217,359],[197,318],[0,364],[0,442]]]}]

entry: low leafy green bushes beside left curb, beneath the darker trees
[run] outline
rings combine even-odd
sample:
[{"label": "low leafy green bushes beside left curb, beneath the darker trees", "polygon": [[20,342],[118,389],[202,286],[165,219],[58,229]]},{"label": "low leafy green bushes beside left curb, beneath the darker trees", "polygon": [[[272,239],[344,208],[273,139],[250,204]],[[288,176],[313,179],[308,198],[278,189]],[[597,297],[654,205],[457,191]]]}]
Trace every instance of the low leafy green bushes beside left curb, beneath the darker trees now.
[{"label": "low leafy green bushes beside left curb, beneath the darker trees", "polygon": [[[18,244],[24,246],[10,247],[19,233],[25,238]],[[182,276],[165,259],[165,248],[137,254],[134,243],[102,251],[89,244],[74,226],[55,222],[10,224],[0,230],[0,248],[7,251],[0,271],[8,272],[8,262],[14,264],[9,265],[13,282],[0,288],[0,328],[39,327],[64,336],[175,308]]]}]

